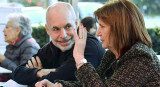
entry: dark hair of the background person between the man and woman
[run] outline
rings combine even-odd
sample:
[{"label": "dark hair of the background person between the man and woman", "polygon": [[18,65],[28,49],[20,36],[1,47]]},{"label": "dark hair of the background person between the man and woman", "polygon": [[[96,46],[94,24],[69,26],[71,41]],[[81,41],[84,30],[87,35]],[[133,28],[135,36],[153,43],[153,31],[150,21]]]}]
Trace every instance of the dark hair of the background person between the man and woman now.
[{"label": "dark hair of the background person between the man and woman", "polygon": [[81,20],[81,23],[83,24],[84,27],[87,28],[87,31],[96,25],[96,20],[93,17],[85,17]]}]

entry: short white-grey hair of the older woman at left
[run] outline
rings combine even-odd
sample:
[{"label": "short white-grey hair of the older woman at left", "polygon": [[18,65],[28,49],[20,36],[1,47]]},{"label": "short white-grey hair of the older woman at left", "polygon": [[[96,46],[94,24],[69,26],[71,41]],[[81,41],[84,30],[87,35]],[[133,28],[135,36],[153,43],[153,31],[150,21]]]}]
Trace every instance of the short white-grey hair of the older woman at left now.
[{"label": "short white-grey hair of the older woman at left", "polygon": [[31,21],[27,16],[18,13],[12,13],[7,17],[8,21],[12,23],[14,29],[21,29],[19,37],[23,37],[32,33]]}]

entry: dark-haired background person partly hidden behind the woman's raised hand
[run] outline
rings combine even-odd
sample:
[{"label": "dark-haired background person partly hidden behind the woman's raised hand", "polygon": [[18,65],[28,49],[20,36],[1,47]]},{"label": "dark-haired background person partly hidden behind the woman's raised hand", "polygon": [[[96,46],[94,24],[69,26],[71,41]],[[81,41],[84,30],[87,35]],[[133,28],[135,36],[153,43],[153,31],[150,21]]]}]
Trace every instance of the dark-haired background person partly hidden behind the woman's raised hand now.
[{"label": "dark-haired background person partly hidden behind the woman's raised hand", "polygon": [[81,23],[83,24],[84,27],[87,28],[87,31],[96,36],[97,32],[97,25],[96,25],[96,20],[92,17],[85,17],[81,20]]}]

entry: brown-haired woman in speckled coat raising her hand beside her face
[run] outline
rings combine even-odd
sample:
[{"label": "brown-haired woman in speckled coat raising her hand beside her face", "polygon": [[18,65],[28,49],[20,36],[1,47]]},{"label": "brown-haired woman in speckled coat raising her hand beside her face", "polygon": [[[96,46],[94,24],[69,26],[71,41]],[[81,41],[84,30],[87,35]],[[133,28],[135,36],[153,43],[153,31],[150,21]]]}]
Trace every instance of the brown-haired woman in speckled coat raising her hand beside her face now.
[{"label": "brown-haired woman in speckled coat raising her hand beside her face", "polygon": [[87,32],[80,28],[79,36],[74,33],[73,52],[79,81],[53,84],[43,80],[36,87],[160,87],[160,61],[137,6],[129,0],[110,1],[94,14],[100,26],[96,35],[103,48],[109,49],[100,66],[95,70],[90,63],[81,62]]}]

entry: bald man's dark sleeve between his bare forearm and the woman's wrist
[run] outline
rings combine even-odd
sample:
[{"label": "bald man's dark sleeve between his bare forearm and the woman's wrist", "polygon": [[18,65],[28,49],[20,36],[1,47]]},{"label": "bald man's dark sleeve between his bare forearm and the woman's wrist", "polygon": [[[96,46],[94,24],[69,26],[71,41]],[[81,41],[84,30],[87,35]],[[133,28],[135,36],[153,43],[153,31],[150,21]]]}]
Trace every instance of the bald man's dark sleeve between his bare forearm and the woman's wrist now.
[{"label": "bald man's dark sleeve between his bare forearm and the woman's wrist", "polygon": [[48,79],[51,82],[54,80],[67,80],[74,81],[75,78],[75,61],[73,58],[70,58],[64,62],[60,67],[56,68],[55,72],[50,72],[48,75],[43,76],[40,80]]}]

